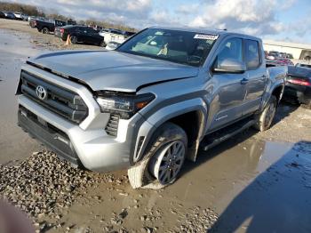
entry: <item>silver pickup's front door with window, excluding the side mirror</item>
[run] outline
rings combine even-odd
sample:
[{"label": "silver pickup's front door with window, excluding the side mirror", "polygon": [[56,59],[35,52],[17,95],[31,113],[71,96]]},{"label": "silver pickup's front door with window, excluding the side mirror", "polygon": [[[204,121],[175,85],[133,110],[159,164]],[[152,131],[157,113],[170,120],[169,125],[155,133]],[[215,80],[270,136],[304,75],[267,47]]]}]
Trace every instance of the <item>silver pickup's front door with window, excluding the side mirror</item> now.
[{"label": "silver pickup's front door with window, excluding the side mirror", "polygon": [[[236,60],[243,63],[243,39],[232,37],[220,44],[213,67],[217,67],[222,60]],[[243,80],[246,79],[246,74],[245,72],[211,72],[214,92],[209,113],[212,117],[209,131],[215,131],[243,116],[243,101],[246,94]]]}]

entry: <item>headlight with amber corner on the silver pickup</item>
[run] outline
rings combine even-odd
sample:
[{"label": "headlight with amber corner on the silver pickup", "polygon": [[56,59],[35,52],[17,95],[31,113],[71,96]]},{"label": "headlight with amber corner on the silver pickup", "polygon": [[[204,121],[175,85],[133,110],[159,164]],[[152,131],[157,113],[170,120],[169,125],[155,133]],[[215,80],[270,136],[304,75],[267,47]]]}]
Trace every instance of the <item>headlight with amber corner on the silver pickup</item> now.
[{"label": "headlight with amber corner on the silver pickup", "polygon": [[114,113],[122,119],[130,119],[155,98],[156,96],[152,93],[130,95],[116,92],[98,92],[96,95],[101,112]]}]

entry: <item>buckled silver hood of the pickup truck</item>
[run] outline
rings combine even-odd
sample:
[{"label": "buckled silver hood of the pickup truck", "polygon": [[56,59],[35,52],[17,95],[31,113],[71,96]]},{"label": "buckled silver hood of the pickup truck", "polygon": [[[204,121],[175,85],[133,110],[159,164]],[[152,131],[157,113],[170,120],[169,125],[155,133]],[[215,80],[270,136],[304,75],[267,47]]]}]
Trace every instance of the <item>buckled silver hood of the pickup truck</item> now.
[{"label": "buckled silver hood of the pickup truck", "polygon": [[63,51],[28,60],[41,68],[71,76],[93,91],[137,92],[141,87],[197,76],[198,68],[116,51]]}]

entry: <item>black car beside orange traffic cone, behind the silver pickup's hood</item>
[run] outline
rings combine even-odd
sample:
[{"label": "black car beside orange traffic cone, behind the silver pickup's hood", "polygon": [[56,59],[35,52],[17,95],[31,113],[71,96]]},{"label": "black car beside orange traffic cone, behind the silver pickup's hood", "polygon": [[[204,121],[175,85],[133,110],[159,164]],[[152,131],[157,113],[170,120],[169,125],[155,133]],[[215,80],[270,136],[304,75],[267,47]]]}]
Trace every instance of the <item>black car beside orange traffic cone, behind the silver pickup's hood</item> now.
[{"label": "black car beside orange traffic cone, behind the silver pickup's hood", "polygon": [[55,28],[54,35],[60,37],[63,41],[66,41],[68,35],[70,35],[70,42],[72,44],[86,43],[103,45],[104,37],[99,35],[99,32],[93,28],[86,26],[65,26]]}]

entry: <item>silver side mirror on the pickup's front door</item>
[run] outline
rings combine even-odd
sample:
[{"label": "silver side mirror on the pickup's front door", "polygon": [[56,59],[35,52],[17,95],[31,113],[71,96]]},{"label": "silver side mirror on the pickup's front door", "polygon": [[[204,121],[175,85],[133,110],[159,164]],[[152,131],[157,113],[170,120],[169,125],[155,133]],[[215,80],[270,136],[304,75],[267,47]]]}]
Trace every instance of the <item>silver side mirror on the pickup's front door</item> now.
[{"label": "silver side mirror on the pickup's front door", "polygon": [[216,62],[213,71],[218,73],[242,74],[246,70],[244,62],[234,59],[224,59]]}]

